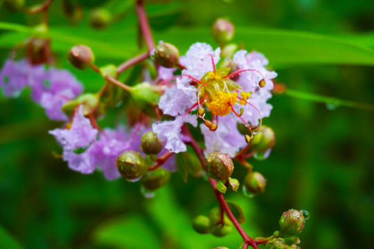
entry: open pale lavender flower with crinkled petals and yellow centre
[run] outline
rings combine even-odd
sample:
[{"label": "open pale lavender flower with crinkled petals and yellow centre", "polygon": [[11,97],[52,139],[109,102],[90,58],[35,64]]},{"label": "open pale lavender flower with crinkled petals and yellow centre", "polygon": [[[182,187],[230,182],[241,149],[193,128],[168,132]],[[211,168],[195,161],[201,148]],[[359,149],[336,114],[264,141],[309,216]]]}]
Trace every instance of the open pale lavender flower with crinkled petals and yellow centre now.
[{"label": "open pale lavender flower with crinkled petals and yellow centre", "polygon": [[[170,151],[178,153],[186,149],[180,137],[180,127],[185,121],[180,117],[185,117],[186,113],[197,109],[197,100],[205,98],[205,95],[199,95],[201,92],[198,93],[198,87],[206,86],[202,91],[204,94],[209,93],[208,97],[211,97],[209,100],[199,100],[206,101],[201,102],[199,107],[202,108],[202,104],[205,104],[205,107],[215,114],[216,120],[220,116],[216,130],[211,129],[212,126],[206,127],[208,124],[200,125],[205,138],[206,155],[221,151],[235,156],[240,148],[247,145],[236,124],[244,122],[247,126],[256,126],[260,123],[259,120],[270,115],[272,106],[267,100],[271,98],[270,91],[274,87],[271,79],[276,77],[276,73],[265,68],[268,64],[267,59],[257,52],[247,53],[245,50],[239,50],[232,59],[232,65],[238,68],[233,73],[236,77],[225,74],[222,71],[224,69],[217,70],[216,74],[216,65],[219,61],[220,48],[213,50],[208,44],[202,43],[193,44],[186,55],[181,57],[180,63],[186,69],[182,71],[182,77],[177,79],[177,84],[167,89],[159,101],[159,108],[163,113],[176,118],[174,121],[153,125],[154,132],[159,134],[161,140],[167,141],[166,148]],[[262,88],[259,86],[260,80],[266,82]],[[199,86],[196,87],[197,82]],[[215,85],[213,87],[209,84]],[[231,90],[227,88],[228,85]],[[204,119],[204,116],[199,117]]]}]

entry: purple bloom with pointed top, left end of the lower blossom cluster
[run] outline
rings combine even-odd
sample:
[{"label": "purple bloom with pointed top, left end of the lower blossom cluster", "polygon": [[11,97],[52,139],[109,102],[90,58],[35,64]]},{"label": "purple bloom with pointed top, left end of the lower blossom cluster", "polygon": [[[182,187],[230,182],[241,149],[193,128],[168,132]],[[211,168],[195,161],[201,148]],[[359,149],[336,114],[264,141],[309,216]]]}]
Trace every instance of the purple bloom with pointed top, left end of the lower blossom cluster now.
[{"label": "purple bloom with pointed top, left end of the lower blossom cluster", "polygon": [[69,168],[83,174],[94,172],[94,159],[89,145],[96,141],[98,130],[92,127],[88,118],[84,118],[82,106],[78,108],[70,129],[54,129],[49,133],[62,146],[62,158],[68,162]]}]

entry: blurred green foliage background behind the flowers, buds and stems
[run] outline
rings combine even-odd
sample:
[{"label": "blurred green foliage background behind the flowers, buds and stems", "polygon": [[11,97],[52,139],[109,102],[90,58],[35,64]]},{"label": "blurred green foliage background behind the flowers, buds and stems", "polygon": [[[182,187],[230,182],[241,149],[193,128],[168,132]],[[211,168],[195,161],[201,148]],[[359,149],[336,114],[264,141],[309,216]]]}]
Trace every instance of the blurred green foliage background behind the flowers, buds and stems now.
[{"label": "blurred green foliage background behind the flowers, buds and stems", "polygon": [[[37,2],[26,1],[28,6]],[[89,44],[100,66],[138,54],[132,1],[72,2],[82,7],[82,21],[67,19],[61,0],[51,6],[57,65],[69,68],[86,91],[98,91],[103,80],[69,66],[65,53],[74,44]],[[227,17],[237,27],[234,41],[264,53],[277,82],[374,103],[374,1],[150,2],[154,36],[177,45],[182,54],[194,42],[217,46],[210,26],[217,17]],[[105,30],[89,26],[89,10],[99,6],[121,14]],[[32,26],[39,20],[0,8],[2,22]],[[0,27],[5,29],[0,31],[3,62],[32,31]],[[274,109],[263,121],[276,132],[276,146],[267,160],[250,160],[267,178],[267,190],[254,199],[241,191],[226,194],[242,205],[245,230],[251,237],[269,236],[282,212],[305,209],[311,218],[299,236],[301,248],[371,248],[374,112],[327,108],[287,95],[274,95],[269,102]],[[112,116],[103,126],[114,125]],[[184,183],[175,173],[156,198],[145,199],[139,183],[107,182],[100,172],[79,174],[55,159],[51,152],[60,147],[47,131],[60,125],[46,118],[28,91],[17,99],[0,97],[0,248],[238,248],[235,231],[216,238],[197,234],[190,225],[194,216],[217,205],[204,179],[189,177]],[[236,165],[233,176],[242,180],[244,173]]]}]

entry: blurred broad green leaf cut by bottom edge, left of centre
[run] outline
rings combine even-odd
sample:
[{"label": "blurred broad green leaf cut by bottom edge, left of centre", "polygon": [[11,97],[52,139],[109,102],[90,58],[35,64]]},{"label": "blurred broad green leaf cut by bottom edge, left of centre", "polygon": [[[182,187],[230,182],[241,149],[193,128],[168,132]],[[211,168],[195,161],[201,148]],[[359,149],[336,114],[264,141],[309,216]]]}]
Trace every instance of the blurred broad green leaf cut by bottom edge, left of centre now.
[{"label": "blurred broad green leaf cut by bottom edge, left of centre", "polygon": [[99,245],[116,248],[160,248],[160,241],[143,216],[116,217],[101,225],[94,234],[94,241]]}]

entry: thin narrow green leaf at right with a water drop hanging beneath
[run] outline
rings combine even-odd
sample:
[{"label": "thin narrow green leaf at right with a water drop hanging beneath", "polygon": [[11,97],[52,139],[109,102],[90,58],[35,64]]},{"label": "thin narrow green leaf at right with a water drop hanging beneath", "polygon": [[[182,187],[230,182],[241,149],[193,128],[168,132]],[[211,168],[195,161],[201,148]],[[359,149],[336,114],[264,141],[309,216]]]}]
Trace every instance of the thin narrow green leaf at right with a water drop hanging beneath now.
[{"label": "thin narrow green leaf at right with a water drop hanging beneath", "polygon": [[357,109],[366,109],[366,110],[374,111],[374,104],[365,104],[365,103],[355,102],[351,100],[341,100],[339,98],[327,97],[327,96],[317,95],[313,93],[305,93],[302,91],[296,91],[292,89],[287,89],[283,94],[293,97],[293,98],[299,98],[301,100],[309,100],[309,101],[324,103],[326,104],[326,107],[330,110],[341,106],[341,107],[353,107]]}]

